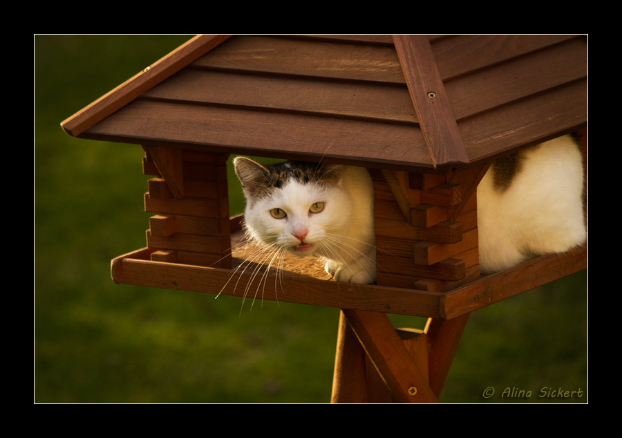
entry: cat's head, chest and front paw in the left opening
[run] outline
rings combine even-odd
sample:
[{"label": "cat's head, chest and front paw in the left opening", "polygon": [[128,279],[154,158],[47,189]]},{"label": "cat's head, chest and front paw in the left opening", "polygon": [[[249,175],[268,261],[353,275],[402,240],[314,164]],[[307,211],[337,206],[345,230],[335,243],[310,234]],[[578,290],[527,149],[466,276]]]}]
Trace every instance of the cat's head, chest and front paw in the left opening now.
[{"label": "cat's head, chest and front paw in the left opening", "polygon": [[255,241],[319,257],[338,282],[374,283],[373,183],[364,167],[234,159]]}]

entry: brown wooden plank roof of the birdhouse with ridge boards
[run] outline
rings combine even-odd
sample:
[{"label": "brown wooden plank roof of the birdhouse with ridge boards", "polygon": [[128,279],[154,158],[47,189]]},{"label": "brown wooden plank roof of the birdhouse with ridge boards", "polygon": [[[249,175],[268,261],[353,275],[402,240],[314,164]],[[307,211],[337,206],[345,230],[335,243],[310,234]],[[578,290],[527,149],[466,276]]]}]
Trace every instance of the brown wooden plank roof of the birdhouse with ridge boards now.
[{"label": "brown wooden plank roof of the birdhouse with ridge boards", "polygon": [[581,35],[199,35],[62,127],[79,138],[433,171],[586,123]]}]

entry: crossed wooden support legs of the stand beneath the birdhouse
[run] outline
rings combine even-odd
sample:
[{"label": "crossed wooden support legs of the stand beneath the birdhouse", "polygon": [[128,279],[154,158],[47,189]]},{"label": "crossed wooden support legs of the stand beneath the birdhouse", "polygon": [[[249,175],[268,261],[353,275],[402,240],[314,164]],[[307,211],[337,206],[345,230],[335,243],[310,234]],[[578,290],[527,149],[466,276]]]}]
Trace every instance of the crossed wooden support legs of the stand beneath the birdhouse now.
[{"label": "crossed wooden support legs of the stand beneath the birdhouse", "polygon": [[396,330],[384,313],[342,309],[331,403],[437,402],[468,318]]}]

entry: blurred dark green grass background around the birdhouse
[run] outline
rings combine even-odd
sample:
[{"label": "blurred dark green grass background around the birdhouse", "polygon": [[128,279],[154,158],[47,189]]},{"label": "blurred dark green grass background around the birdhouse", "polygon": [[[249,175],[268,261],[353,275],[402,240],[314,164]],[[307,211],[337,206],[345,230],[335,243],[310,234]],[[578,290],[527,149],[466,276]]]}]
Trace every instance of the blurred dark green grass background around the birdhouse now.
[{"label": "blurred dark green grass background around the birdhouse", "polygon": [[[330,401],[337,309],[251,309],[111,280],[111,259],[145,246],[143,152],[77,140],[59,124],[190,37],[34,36],[35,403]],[[235,179],[232,189],[236,212]],[[583,396],[540,399],[543,387]],[[532,395],[504,398],[505,388]],[[586,403],[587,271],[475,311],[440,401]]]}]

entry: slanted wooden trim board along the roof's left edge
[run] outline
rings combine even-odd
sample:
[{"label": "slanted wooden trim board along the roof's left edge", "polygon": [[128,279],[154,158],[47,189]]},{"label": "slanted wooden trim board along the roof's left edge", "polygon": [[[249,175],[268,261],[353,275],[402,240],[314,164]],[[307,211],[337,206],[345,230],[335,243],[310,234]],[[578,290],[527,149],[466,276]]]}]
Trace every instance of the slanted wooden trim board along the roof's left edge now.
[{"label": "slanted wooden trim board along the roof's left edge", "polygon": [[62,129],[71,136],[79,136],[89,127],[128,104],[155,84],[173,75],[189,62],[205,55],[229,35],[198,35],[176,48],[149,68],[137,73],[123,84],[109,91],[95,102],[78,111],[61,123]]}]

